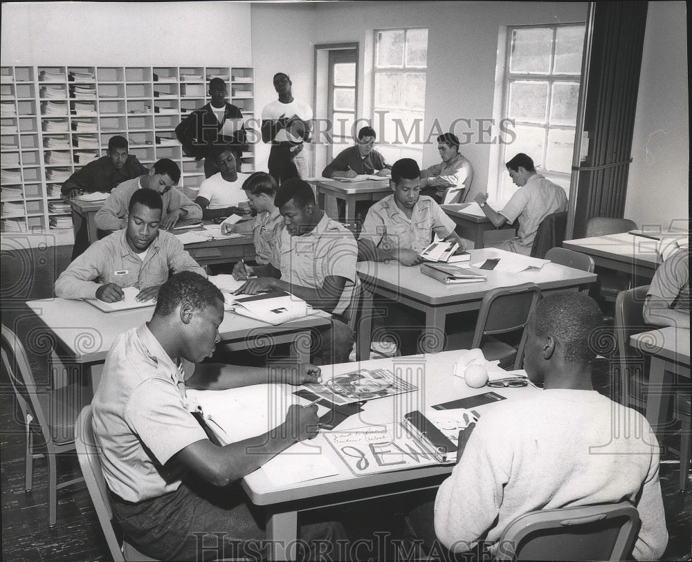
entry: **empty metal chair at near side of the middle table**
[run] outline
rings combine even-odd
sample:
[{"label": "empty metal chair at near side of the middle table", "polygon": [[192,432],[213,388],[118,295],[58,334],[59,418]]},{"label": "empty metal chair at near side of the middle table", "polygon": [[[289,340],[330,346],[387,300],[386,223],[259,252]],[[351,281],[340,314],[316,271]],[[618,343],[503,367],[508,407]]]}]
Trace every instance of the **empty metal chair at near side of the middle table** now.
[{"label": "empty metal chair at near side of the middle table", "polygon": [[[488,361],[500,359],[500,366],[522,367],[526,332],[524,328],[529,312],[536,306],[540,297],[540,287],[536,283],[523,283],[514,287],[500,287],[489,291],[478,311],[475,331],[449,334],[445,350],[480,348]],[[518,332],[522,337],[518,347],[492,337],[497,334]]]}]

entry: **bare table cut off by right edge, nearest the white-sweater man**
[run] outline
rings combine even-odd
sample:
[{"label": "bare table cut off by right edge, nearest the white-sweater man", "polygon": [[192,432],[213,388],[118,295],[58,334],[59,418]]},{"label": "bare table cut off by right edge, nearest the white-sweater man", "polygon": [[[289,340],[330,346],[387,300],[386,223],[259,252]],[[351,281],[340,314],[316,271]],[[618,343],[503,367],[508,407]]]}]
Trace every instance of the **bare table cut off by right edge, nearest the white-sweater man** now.
[{"label": "bare table cut off by right edge, nearest the white-sweater man", "polygon": [[[671,391],[675,375],[690,378],[690,330],[669,326],[641,332],[630,336],[630,345],[651,356],[646,420],[661,442],[671,393],[675,393]],[[690,390],[692,387],[687,392]]]}]

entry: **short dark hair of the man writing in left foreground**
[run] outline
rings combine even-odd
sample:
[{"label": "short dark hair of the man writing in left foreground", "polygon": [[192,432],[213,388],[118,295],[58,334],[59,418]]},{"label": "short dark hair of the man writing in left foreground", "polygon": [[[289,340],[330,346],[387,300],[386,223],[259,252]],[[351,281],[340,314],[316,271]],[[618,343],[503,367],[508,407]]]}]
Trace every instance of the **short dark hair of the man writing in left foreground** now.
[{"label": "short dark hair of the man writing in left foreground", "polygon": [[170,315],[183,301],[190,303],[195,310],[203,310],[218,301],[224,302],[224,294],[199,273],[181,271],[161,285],[156,296],[154,316]]}]

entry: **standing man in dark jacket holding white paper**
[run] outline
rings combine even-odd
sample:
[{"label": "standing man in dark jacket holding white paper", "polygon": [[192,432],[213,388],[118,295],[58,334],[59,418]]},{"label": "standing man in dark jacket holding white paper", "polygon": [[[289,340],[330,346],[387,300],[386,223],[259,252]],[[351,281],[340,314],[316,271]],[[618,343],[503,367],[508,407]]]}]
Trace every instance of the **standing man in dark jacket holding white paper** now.
[{"label": "standing man in dark jacket holding white paper", "polygon": [[185,156],[195,160],[204,158],[204,176],[210,178],[219,171],[212,155],[215,144],[231,144],[236,168],[240,169],[240,156],[246,149],[247,133],[243,114],[237,106],[226,102],[228,89],[219,77],[209,81],[211,102],[195,109],[175,128],[175,135],[183,145]]}]

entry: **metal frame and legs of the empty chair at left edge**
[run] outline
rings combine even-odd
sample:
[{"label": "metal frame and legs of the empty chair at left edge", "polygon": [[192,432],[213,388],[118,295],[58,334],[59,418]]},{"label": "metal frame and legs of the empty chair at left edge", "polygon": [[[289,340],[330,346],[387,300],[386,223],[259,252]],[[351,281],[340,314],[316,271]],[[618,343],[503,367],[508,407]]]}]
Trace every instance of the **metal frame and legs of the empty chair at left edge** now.
[{"label": "metal frame and legs of the empty chair at left edge", "polygon": [[[24,418],[25,437],[25,467],[24,489],[28,492],[33,489],[33,460],[44,456],[34,453],[35,433],[37,428],[46,444],[46,458],[48,460],[48,525],[57,523],[57,491],[84,481],[84,478],[73,478],[60,484],[57,483],[56,455],[75,450],[74,440],[55,442],[51,431],[51,425],[46,419],[46,413],[37,394],[37,385],[33,372],[26,356],[24,346],[19,341],[15,332],[2,324],[1,328],[2,348],[1,357],[4,368],[8,373],[15,397],[19,404],[19,410]],[[26,396],[22,393],[26,391]]]}]

